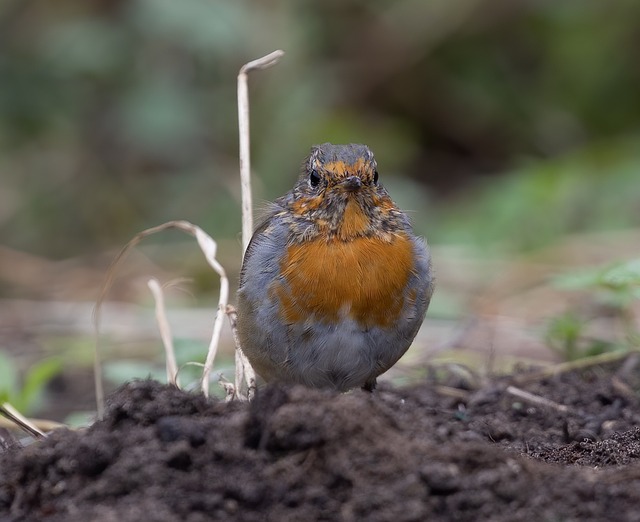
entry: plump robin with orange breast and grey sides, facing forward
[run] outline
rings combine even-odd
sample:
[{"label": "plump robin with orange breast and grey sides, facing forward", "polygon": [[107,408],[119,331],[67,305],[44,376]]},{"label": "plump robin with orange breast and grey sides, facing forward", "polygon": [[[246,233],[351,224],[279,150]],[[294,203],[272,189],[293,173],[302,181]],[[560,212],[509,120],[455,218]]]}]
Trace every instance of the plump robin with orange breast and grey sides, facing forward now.
[{"label": "plump robin with orange breast and grey sides, facing forward", "polygon": [[318,145],[247,247],[241,347],[267,382],[372,391],[416,336],[433,283],[369,148]]}]

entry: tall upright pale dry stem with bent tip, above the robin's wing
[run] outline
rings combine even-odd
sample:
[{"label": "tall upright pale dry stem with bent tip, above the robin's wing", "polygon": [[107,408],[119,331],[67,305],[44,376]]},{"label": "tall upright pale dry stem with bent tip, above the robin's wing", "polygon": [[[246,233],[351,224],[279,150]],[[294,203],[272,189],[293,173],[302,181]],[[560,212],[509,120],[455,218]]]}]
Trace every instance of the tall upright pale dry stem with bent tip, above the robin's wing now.
[{"label": "tall upright pale dry stem with bent tip, above the robin's wing", "polygon": [[253,233],[251,201],[251,154],[249,148],[249,72],[266,69],[278,63],[284,51],[278,50],[245,63],[238,74],[238,129],[240,133],[240,183],[242,184],[242,252],[247,249]]}]

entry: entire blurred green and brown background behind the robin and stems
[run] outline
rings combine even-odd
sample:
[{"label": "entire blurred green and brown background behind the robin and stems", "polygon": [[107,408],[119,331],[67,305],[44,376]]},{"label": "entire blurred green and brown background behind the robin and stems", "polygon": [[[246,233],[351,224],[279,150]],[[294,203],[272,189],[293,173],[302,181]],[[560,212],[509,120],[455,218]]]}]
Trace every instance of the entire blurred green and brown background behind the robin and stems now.
[{"label": "entire blurred green and brown background behind the robin and stems", "polygon": [[[312,144],[366,143],[433,246],[436,297],[390,378],[637,348],[638,20],[634,0],[1,2],[0,396],[91,410],[95,299],[144,228],[202,227],[235,291],[236,77],[275,49],[250,78],[256,207]],[[218,279],[165,232],[107,296],[112,385],[162,375],[150,276],[173,282],[181,360],[204,360]]]}]

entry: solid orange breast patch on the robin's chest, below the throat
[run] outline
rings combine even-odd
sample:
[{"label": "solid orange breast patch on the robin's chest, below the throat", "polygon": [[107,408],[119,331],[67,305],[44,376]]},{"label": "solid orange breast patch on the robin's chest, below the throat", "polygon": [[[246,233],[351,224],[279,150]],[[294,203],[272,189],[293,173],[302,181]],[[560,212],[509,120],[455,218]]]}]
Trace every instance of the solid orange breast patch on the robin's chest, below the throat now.
[{"label": "solid orange breast patch on the robin's chest, below the throat", "polygon": [[288,247],[280,268],[286,285],[277,283],[271,291],[285,322],[314,316],[332,323],[344,314],[363,327],[384,327],[402,311],[413,247],[405,235],[390,242],[318,239]]}]

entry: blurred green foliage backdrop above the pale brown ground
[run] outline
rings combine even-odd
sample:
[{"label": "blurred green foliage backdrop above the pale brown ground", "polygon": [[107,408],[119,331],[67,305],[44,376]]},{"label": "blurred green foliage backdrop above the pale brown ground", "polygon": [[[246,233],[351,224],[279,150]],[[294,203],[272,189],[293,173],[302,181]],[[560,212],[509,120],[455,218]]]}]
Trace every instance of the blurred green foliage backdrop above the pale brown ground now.
[{"label": "blurred green foliage backdrop above the pale brown ground", "polygon": [[257,205],[311,144],[355,141],[432,241],[637,225],[637,20],[634,0],[4,2],[1,242],[235,237],[236,75],[276,48],[251,80]]}]

